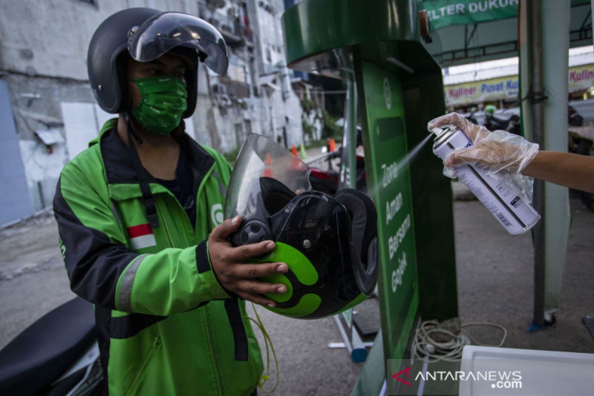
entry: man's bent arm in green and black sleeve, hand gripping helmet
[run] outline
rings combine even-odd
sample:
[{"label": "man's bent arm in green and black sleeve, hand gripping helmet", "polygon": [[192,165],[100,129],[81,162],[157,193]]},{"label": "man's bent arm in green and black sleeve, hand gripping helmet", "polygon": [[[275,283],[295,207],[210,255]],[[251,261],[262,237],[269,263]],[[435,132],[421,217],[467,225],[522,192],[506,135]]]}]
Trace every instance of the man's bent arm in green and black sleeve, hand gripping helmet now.
[{"label": "man's bent arm in green and black sleeve, hand gripping helmet", "polygon": [[[54,199],[73,292],[108,309],[161,316],[229,297],[214,274],[213,265],[219,265],[220,259],[211,263],[207,241],[185,249],[163,249],[157,254],[129,251],[107,191],[100,186],[96,189],[96,184],[69,164],[62,172]],[[252,246],[249,254],[262,254],[266,246],[261,245]],[[214,251],[218,251],[216,246]],[[225,258],[225,264],[236,264],[236,256],[228,254]],[[252,277],[277,271],[277,267],[278,264],[259,267]],[[245,270],[249,273],[251,269]],[[232,283],[237,283],[238,277],[232,278]],[[256,291],[261,293],[260,289]]]}]

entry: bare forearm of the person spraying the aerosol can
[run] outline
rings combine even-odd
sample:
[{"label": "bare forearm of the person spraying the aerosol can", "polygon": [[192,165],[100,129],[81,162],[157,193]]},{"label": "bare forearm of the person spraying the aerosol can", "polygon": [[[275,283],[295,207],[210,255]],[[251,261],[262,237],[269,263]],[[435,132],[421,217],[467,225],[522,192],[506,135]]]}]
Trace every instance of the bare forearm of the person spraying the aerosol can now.
[{"label": "bare forearm of the person spraying the aerosol can", "polygon": [[594,194],[594,157],[539,151],[522,175]]}]

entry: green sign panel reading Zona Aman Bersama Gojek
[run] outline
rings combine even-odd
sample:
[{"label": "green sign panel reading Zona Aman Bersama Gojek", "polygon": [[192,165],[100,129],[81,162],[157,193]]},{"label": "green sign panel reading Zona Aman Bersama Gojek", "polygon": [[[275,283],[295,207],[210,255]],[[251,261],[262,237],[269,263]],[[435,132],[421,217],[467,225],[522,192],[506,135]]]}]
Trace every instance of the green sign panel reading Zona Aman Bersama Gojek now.
[{"label": "green sign panel reading Zona Aman Bersama Gojek", "polygon": [[[415,230],[402,87],[397,75],[361,62],[368,134],[365,160],[368,191],[378,214],[380,306],[384,346],[405,356],[407,334],[419,305]],[[405,335],[405,337],[402,337]]]}]

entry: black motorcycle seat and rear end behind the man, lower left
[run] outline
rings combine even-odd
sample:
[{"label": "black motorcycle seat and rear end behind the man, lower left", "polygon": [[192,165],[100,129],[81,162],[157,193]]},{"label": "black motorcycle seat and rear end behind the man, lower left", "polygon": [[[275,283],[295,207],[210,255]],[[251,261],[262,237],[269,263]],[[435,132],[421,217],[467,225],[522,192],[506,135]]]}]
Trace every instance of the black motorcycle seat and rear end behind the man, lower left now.
[{"label": "black motorcycle seat and rear end behind the man, lower left", "polygon": [[0,350],[0,394],[95,396],[103,370],[93,305],[80,297],[46,313]]}]

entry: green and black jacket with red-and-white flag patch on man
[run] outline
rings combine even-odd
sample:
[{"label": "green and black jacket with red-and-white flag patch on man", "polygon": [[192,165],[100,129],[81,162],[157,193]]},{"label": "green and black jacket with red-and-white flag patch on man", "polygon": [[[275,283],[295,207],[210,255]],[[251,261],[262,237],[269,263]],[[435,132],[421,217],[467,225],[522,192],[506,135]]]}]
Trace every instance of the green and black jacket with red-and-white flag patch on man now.
[{"label": "green and black jacket with red-and-white flag patch on man", "polygon": [[[230,166],[188,135],[196,226],[150,183],[151,230],[116,120],[62,170],[53,202],[73,292],[95,304],[111,395],[247,395],[262,361],[245,313],[214,275],[207,236],[223,221]],[[150,176],[148,176],[150,177]]]}]

